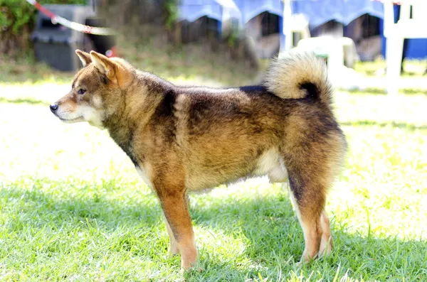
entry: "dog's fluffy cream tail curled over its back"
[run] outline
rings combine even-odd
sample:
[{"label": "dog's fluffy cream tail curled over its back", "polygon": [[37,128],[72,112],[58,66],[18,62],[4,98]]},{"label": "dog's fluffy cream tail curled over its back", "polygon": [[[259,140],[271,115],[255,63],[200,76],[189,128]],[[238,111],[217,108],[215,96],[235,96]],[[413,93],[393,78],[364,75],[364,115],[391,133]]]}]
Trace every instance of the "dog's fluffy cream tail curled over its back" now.
[{"label": "dog's fluffy cream tail curled over its back", "polygon": [[325,63],[314,53],[291,50],[273,60],[265,76],[265,87],[282,99],[312,97],[329,105],[332,85],[327,79]]}]

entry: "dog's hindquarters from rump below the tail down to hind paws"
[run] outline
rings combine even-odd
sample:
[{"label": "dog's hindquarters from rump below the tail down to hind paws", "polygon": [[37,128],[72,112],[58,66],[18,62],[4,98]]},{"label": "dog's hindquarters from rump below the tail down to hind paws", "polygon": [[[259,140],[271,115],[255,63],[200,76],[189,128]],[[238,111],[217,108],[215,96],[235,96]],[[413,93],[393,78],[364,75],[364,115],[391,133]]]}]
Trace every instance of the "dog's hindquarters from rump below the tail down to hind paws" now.
[{"label": "dog's hindquarters from rump below the tail down to hind paws", "polygon": [[307,113],[290,116],[288,134],[280,147],[288,170],[291,198],[304,233],[302,261],[332,250],[325,202],[347,147],[342,131],[320,109],[313,108],[315,112],[308,117]]}]

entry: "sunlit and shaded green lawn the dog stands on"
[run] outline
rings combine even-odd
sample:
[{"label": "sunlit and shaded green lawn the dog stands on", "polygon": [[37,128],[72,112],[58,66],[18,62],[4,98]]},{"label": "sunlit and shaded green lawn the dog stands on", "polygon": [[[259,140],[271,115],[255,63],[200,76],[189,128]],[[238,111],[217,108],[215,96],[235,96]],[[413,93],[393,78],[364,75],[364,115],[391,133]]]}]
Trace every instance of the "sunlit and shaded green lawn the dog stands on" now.
[{"label": "sunlit and shaded green lawn the dog stands on", "polygon": [[156,197],[105,131],[52,116],[69,88],[53,80],[0,83],[0,281],[427,281],[423,92],[336,93],[331,256],[296,265],[288,188],[256,178],[191,195],[199,266],[181,275]]}]

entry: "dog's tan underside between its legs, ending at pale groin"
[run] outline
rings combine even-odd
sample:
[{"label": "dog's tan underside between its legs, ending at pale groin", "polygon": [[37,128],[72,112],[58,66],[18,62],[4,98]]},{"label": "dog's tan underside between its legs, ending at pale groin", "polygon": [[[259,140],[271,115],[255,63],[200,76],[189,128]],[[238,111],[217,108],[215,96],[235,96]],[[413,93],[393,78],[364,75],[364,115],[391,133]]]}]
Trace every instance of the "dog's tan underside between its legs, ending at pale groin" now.
[{"label": "dog's tan underside between its legs, ending at pale groin", "polygon": [[277,148],[265,150],[255,161],[233,163],[233,166],[193,168],[186,178],[186,188],[191,191],[214,188],[233,183],[242,178],[268,175],[273,183],[287,182],[288,172]]}]

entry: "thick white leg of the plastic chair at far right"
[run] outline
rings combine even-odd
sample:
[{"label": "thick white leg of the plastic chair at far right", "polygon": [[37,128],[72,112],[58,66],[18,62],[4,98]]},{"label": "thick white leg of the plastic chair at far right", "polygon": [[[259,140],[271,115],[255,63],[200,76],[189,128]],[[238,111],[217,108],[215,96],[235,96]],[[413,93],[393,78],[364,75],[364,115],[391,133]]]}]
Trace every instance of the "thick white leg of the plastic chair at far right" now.
[{"label": "thick white leg of the plastic chair at far right", "polygon": [[386,43],[386,90],[388,94],[399,93],[404,38],[392,36]]}]

